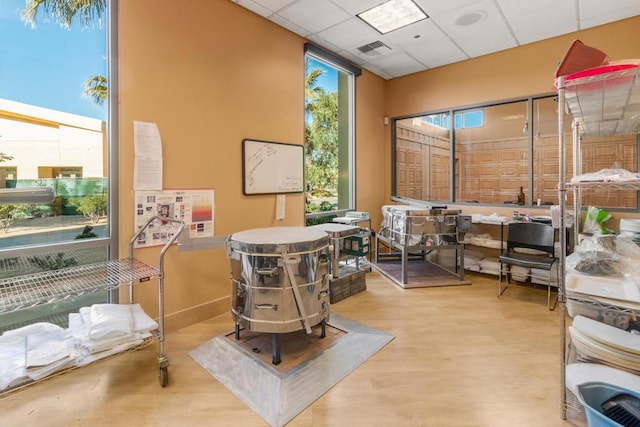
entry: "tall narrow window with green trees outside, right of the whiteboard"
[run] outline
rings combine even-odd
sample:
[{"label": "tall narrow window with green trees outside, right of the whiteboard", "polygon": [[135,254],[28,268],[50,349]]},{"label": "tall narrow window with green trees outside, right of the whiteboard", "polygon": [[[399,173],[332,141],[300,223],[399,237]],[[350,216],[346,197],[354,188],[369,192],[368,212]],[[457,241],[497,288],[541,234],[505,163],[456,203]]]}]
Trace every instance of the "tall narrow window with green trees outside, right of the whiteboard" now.
[{"label": "tall narrow window with green trees outside, right of the whiteboard", "polygon": [[345,61],[305,46],[305,214],[355,208],[354,86]]}]

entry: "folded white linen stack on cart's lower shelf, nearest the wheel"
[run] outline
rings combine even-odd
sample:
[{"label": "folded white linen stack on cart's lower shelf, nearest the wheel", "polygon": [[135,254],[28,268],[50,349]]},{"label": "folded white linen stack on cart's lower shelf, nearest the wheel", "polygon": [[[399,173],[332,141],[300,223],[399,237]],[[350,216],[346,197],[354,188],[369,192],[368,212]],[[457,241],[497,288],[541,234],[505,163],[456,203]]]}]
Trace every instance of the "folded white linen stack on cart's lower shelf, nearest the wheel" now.
[{"label": "folded white linen stack on cart's lower shelf, nearest the wheel", "polygon": [[140,304],[94,304],[69,314],[80,366],[140,345],[157,328]]}]

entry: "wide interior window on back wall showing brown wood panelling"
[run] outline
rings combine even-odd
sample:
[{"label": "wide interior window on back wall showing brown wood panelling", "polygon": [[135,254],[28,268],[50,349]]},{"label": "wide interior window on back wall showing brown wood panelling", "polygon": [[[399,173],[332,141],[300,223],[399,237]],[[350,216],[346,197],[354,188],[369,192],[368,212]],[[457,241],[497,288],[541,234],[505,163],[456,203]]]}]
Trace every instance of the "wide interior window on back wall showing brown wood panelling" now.
[{"label": "wide interior window on back wall showing brown wood panelling", "polygon": [[[394,120],[394,196],[445,203],[558,203],[558,112],[555,96],[452,109]],[[453,117],[451,129],[450,117]],[[567,180],[571,119],[565,120]],[[636,135],[585,139],[582,173],[638,170]],[[452,173],[453,171],[453,173]],[[573,193],[567,192],[568,203]],[[638,209],[634,190],[582,190],[583,206]]]}]

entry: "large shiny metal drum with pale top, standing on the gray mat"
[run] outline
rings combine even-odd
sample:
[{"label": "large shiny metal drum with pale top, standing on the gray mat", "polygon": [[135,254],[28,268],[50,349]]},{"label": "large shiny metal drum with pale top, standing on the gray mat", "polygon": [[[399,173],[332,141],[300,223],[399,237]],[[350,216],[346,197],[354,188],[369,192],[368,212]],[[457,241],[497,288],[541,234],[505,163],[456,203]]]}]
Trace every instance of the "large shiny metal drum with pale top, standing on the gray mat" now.
[{"label": "large shiny metal drum with pale top, standing on the gray mat", "polygon": [[231,312],[250,331],[286,333],[329,317],[329,236],[309,227],[241,231],[227,241]]}]

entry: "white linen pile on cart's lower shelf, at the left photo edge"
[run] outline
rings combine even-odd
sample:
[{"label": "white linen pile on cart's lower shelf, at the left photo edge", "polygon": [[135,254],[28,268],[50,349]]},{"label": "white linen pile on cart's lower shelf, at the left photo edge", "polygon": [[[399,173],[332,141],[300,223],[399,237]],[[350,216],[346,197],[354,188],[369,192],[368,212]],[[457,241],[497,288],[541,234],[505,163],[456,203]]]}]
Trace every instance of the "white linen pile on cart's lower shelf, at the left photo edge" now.
[{"label": "white linen pile on cart's lower shelf, at the left photo edge", "polygon": [[34,323],[0,337],[0,391],[39,380],[75,364],[73,340],[60,326]]}]

